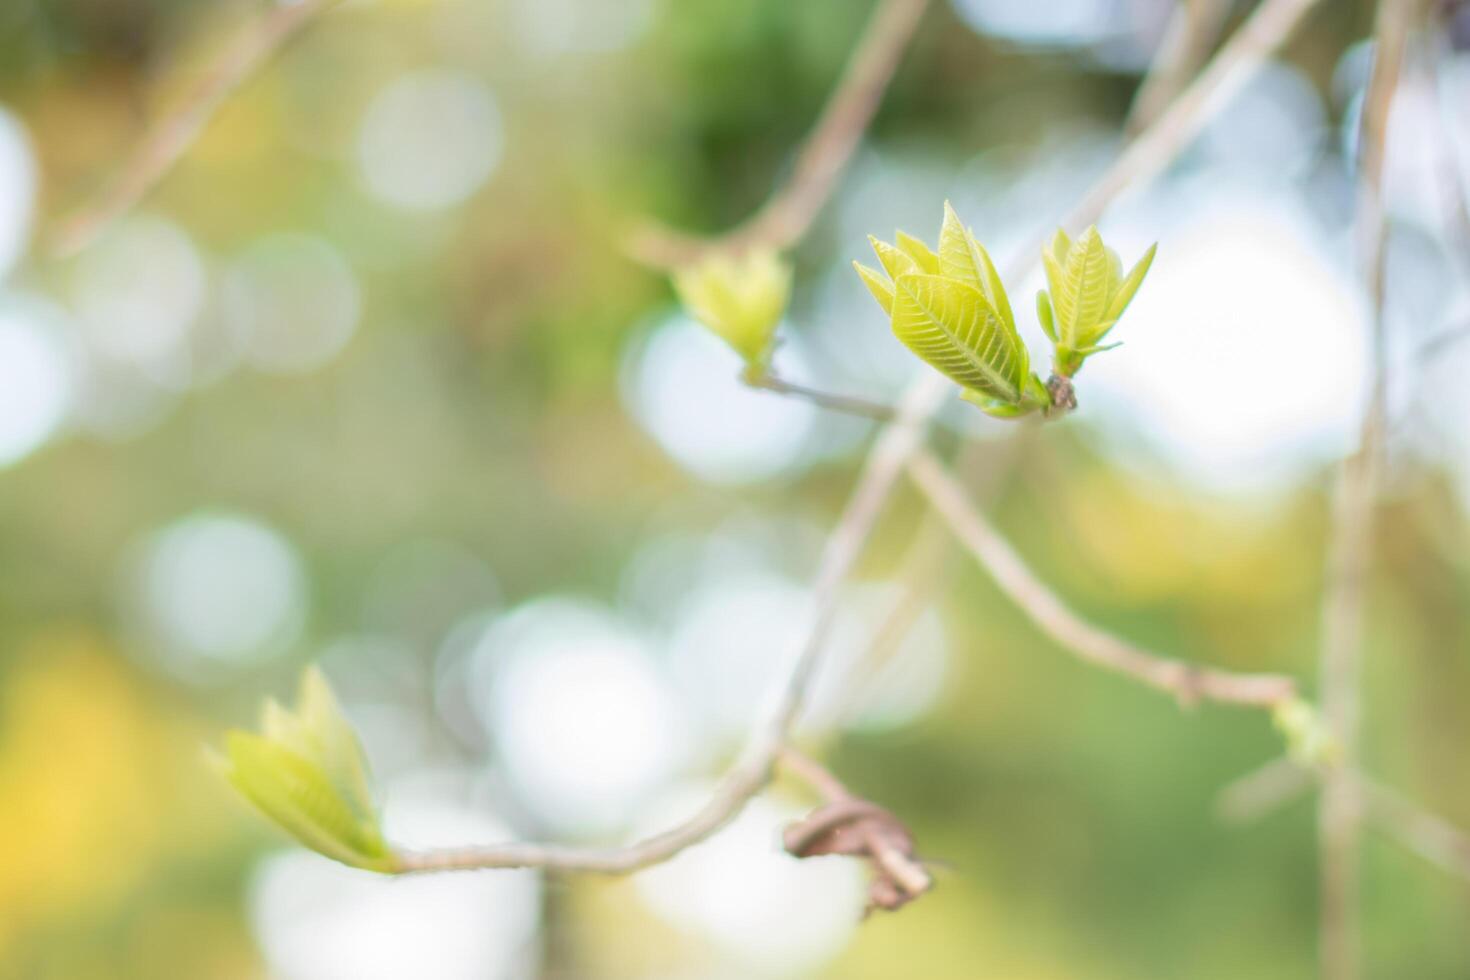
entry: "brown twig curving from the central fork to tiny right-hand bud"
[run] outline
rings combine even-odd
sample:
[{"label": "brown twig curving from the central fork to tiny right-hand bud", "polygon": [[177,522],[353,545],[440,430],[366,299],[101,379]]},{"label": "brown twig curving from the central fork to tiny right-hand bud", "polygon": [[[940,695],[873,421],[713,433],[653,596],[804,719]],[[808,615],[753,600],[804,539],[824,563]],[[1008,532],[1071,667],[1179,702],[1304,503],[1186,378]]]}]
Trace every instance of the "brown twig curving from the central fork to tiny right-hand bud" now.
[{"label": "brown twig curving from the central fork to tiny right-hand bud", "polygon": [[1053,592],[970,505],[964,488],[929,451],[908,461],[908,475],[960,542],[989,572],[1041,632],[1082,660],[1173,695],[1182,705],[1198,701],[1270,708],[1295,695],[1295,683],[1280,674],[1242,674],[1198,667],[1150,652],[1088,623]]}]

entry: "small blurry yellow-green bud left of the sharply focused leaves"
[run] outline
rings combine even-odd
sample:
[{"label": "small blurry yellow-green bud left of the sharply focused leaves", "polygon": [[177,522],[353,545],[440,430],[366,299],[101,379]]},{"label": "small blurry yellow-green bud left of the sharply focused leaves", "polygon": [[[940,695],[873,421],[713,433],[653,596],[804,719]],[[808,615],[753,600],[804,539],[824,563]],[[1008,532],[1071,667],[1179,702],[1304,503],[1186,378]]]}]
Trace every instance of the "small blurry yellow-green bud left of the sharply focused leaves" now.
[{"label": "small blurry yellow-green bud left of the sharply focused leaves", "polygon": [[791,266],[770,248],[714,254],[673,273],[684,309],[745,360],[764,370],[791,298]]}]

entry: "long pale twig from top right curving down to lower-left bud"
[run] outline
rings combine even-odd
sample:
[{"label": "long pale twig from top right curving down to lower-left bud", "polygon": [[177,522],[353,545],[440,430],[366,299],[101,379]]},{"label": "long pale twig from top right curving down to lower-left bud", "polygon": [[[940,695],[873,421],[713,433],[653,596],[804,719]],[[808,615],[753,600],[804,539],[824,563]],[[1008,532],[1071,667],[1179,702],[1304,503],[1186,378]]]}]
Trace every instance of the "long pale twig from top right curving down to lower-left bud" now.
[{"label": "long pale twig from top right curving down to lower-left bud", "polygon": [[[1069,226],[1089,223],[1130,184],[1157,175],[1230,94],[1260,68],[1264,57],[1286,41],[1292,28],[1314,3],[1316,0],[1266,0],[1220,48],[1200,79],[1185,90],[1176,104],[1139,135],[1092,187],[1073,210]],[[1016,279],[1030,272],[1035,263],[1030,256],[1035,256],[1039,247],[1038,242],[1036,248],[1028,250]],[[926,423],[944,404],[950,389],[951,385],[944,376],[926,372],[904,395],[898,416],[879,432],[847,510],[828,538],[813,586],[813,627],[807,645],[788,674],[781,704],[769,723],[753,736],[742,761],[725,776],[716,793],[694,817],[664,833],[623,848],[582,849],[504,843],[403,855],[400,870],[544,867],[559,871],[628,873],[664,861],[734,820],[745,802],[769,780],[776,752],[781,751],[801,713],[811,674],[820,663],[823,641],[835,616],[838,586],[851,570],[908,457],[920,445]]]}]

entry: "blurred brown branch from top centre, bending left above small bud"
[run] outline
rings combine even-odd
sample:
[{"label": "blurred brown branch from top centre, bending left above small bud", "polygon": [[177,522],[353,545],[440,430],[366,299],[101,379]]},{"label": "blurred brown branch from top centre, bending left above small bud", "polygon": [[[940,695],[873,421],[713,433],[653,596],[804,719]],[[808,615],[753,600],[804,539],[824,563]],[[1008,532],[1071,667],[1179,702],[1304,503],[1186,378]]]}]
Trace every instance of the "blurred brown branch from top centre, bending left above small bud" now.
[{"label": "blurred brown branch from top centre, bending left above small bud", "polygon": [[838,176],[878,112],[928,1],[879,0],[842,79],[797,156],[791,178],[760,210],[710,238],[647,222],[628,237],[628,254],[644,264],[672,269],[711,251],[734,253],[756,245],[781,250],[801,238],[832,195]]}]

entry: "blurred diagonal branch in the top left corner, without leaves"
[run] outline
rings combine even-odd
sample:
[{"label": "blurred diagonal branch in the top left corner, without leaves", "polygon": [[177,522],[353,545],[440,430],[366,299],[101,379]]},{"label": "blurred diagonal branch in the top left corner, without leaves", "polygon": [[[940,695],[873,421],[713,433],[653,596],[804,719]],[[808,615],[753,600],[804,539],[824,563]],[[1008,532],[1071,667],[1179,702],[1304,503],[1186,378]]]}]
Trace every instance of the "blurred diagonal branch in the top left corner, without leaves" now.
[{"label": "blurred diagonal branch in the top left corner, without leaves", "polygon": [[219,106],[316,15],[338,1],[281,3],[232,38],[204,78],[143,137],[107,190],[56,226],[51,251],[56,256],[81,251],[132,210],[188,153]]}]

